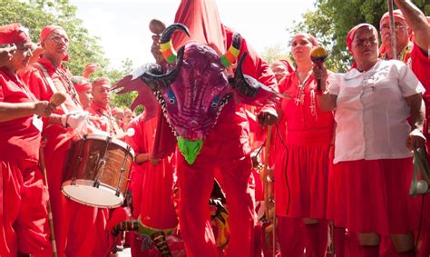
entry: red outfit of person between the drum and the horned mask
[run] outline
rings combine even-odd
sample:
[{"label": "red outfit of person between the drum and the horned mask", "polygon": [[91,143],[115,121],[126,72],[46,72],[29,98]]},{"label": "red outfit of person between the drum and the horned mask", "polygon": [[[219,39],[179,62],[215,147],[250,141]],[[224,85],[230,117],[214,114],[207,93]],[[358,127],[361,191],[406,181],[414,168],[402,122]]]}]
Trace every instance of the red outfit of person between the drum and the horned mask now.
[{"label": "red outfit of person between the drum and the horned mask", "polygon": [[[144,121],[144,114],[139,115],[129,124],[125,142],[129,143],[137,156],[152,152],[157,119]],[[178,225],[171,199],[173,183],[173,160],[164,157],[158,164],[147,161],[133,163],[130,189],[132,191],[132,216],[138,219],[145,235],[153,232],[173,232]],[[157,250],[142,251],[142,238],[134,234],[132,242],[133,256],[159,256]]]}]

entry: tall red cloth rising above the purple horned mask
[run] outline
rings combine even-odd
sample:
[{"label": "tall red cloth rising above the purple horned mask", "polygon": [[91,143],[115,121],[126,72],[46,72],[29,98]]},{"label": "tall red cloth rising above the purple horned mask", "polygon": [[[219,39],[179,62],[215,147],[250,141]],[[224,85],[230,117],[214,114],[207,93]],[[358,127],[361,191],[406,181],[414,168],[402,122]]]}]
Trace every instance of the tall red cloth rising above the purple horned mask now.
[{"label": "tall red cloth rising above the purple horned mask", "polygon": [[190,41],[197,41],[210,45],[218,54],[226,52],[226,32],[221,25],[215,0],[181,0],[175,23],[186,25],[191,35],[188,37],[184,33],[174,34],[171,42],[175,49]]}]

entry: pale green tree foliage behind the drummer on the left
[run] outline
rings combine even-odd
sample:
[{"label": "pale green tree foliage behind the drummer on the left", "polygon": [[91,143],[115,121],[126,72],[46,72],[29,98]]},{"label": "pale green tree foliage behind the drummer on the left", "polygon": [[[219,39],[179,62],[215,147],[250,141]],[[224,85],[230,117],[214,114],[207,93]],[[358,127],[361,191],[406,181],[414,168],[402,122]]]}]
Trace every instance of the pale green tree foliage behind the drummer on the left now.
[{"label": "pale green tree foliage behind the drummer on the left", "polygon": [[[64,65],[72,74],[80,75],[89,63],[101,68],[91,77],[108,77],[113,83],[132,70],[132,61],[125,60],[122,69],[109,69],[99,44],[100,38],[89,35],[83,21],[76,17],[76,7],[69,0],[5,0],[0,5],[0,25],[20,23],[30,31],[33,42],[39,42],[40,31],[46,25],[61,25],[70,39],[69,61]],[[113,95],[112,102],[119,107],[130,107],[134,94]]]}]

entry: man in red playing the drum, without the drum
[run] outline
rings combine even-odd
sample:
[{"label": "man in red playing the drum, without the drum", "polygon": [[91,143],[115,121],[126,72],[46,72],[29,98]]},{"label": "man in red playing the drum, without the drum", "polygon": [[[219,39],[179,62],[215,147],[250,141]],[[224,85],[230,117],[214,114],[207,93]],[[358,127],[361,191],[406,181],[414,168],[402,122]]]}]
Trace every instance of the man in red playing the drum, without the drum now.
[{"label": "man in red playing the drum, without the drum", "polygon": [[[61,193],[63,173],[73,140],[83,133],[87,113],[83,112],[63,61],[68,58],[69,38],[64,29],[49,25],[41,31],[42,58],[24,71],[24,81],[39,100],[50,100],[55,92],[67,94],[55,114],[63,114],[61,123],[47,125],[42,135],[49,194],[54,215],[54,232],[58,256],[91,256],[95,241],[95,209],[75,203]],[[67,243],[67,244],[66,244]]]}]

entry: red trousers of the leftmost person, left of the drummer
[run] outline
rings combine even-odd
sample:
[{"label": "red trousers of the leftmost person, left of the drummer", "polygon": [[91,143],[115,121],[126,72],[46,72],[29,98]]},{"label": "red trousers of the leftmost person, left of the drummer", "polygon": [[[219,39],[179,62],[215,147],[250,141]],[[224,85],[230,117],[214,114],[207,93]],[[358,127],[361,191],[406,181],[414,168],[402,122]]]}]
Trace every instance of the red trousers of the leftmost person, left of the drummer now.
[{"label": "red trousers of the leftmost person, left of the drummer", "polygon": [[48,194],[37,163],[0,161],[0,173],[0,256],[52,254]]}]

